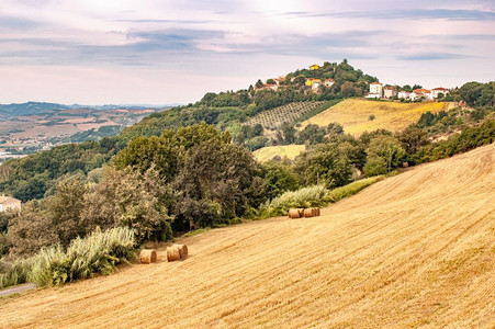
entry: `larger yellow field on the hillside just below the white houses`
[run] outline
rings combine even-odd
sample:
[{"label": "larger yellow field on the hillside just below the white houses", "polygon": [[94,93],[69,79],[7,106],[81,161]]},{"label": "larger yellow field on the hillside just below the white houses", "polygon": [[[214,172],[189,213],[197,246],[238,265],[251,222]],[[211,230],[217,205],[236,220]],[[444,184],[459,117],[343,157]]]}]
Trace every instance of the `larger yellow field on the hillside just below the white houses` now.
[{"label": "larger yellow field on the hillside just below the white houses", "polygon": [[[397,132],[416,123],[425,112],[437,113],[451,106],[450,103],[437,102],[396,103],[348,99],[306,120],[302,123],[302,128],[308,124],[327,126],[338,122],[346,133],[353,136],[381,128]],[[370,121],[370,115],[374,115],[375,118]]]}]

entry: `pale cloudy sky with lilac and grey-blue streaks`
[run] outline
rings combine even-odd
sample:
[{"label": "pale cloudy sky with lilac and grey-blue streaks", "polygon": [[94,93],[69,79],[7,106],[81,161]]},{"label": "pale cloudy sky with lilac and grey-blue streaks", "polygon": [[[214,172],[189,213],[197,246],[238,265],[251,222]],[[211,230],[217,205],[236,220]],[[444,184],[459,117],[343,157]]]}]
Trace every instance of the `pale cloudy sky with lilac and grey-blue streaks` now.
[{"label": "pale cloudy sky with lilac and grey-blue streaks", "polygon": [[171,104],[347,58],[383,83],[495,80],[495,1],[0,0],[0,103]]}]

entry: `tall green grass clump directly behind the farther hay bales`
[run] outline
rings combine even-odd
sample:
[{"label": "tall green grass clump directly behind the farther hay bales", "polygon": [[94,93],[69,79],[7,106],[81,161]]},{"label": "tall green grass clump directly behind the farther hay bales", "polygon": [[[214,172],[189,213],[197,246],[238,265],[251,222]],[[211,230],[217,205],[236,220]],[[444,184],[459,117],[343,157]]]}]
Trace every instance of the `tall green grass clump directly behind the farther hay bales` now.
[{"label": "tall green grass clump directly behind the farther hay bales", "polygon": [[260,207],[261,217],[286,215],[289,208],[307,208],[328,203],[328,190],[324,185],[289,191]]}]

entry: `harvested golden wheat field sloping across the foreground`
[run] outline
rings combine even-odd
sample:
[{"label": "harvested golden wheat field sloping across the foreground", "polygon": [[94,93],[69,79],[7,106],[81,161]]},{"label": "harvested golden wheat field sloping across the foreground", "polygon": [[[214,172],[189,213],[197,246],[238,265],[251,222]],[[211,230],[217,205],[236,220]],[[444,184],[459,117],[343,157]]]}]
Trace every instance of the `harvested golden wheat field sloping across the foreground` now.
[{"label": "harvested golden wheat field sloping across the foreground", "polygon": [[0,327],[495,326],[495,145],[322,209],[182,239],[189,258],[0,299]]}]

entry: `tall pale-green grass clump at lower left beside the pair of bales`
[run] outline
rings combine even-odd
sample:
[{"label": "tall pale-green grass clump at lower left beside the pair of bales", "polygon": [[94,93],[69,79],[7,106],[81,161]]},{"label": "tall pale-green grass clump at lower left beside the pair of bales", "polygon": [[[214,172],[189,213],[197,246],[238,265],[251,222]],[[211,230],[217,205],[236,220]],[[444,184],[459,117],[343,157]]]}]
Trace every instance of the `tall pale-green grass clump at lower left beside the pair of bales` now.
[{"label": "tall pale-green grass clump at lower left beside the pair of bales", "polygon": [[45,248],[32,258],[15,261],[0,274],[0,287],[25,282],[58,285],[95,273],[110,274],[119,263],[136,258],[135,247],[132,229],[97,229],[83,239],[72,240],[67,250],[60,246]]}]

